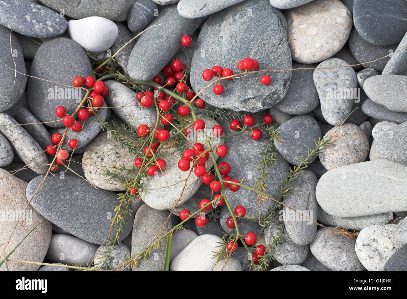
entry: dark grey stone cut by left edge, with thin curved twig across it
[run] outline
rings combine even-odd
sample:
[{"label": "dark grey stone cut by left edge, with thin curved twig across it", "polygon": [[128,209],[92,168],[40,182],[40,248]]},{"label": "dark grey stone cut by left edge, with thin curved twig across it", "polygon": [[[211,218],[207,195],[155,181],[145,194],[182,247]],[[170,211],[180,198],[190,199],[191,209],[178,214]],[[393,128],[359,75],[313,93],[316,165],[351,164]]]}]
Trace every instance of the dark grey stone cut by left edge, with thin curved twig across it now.
[{"label": "dark grey stone cut by left edge, with thin curved twig across it", "polygon": [[[18,39],[10,30],[0,26],[0,112],[5,111],[18,102],[26,86],[26,69],[24,55]],[[17,72],[14,71],[16,68]]]}]

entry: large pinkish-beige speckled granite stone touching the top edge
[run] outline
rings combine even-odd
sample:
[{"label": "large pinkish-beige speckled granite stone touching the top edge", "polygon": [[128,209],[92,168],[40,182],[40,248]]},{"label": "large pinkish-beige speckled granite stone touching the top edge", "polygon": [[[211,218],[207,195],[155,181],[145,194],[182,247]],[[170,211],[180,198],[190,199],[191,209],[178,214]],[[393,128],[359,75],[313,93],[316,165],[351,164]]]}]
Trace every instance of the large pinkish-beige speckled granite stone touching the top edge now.
[{"label": "large pinkish-beige speckled granite stone touching the top edge", "polygon": [[338,52],[352,29],[352,14],[339,0],[315,0],[289,9],[287,39],[293,60],[323,61]]}]

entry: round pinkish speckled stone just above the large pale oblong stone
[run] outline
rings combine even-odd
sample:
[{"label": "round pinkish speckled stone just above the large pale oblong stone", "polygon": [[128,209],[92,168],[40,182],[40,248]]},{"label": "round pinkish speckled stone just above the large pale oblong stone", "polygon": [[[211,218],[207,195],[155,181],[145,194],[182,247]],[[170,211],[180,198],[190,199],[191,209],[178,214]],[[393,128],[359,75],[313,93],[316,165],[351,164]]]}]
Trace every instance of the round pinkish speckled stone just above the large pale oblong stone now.
[{"label": "round pinkish speckled stone just above the large pale oblong stone", "polygon": [[319,154],[319,160],[326,170],[366,160],[370,144],[365,132],[358,126],[346,123],[333,127],[325,134],[325,140],[332,135],[335,136],[332,143],[324,146]]}]

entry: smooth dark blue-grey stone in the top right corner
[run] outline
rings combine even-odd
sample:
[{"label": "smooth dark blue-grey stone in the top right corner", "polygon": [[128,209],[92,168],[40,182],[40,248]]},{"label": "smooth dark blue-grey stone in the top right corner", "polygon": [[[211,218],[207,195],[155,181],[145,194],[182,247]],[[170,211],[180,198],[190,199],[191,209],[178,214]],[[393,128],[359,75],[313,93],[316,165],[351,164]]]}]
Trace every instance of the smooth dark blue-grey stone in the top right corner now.
[{"label": "smooth dark blue-grey stone in the top right corner", "polygon": [[353,24],[361,37],[370,44],[396,44],[407,31],[407,2],[354,0]]}]

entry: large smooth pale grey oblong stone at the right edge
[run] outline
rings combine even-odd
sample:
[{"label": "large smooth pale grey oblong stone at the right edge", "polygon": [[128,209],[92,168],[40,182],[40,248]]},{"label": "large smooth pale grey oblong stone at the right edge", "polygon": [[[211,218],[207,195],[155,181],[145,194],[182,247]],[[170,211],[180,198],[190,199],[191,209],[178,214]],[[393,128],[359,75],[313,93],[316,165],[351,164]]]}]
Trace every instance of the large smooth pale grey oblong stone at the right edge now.
[{"label": "large smooth pale grey oblong stone at the right edge", "polygon": [[407,166],[380,159],[329,170],[315,191],[329,214],[357,217],[407,210]]}]

